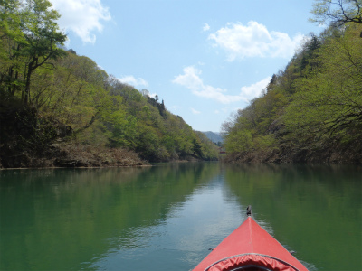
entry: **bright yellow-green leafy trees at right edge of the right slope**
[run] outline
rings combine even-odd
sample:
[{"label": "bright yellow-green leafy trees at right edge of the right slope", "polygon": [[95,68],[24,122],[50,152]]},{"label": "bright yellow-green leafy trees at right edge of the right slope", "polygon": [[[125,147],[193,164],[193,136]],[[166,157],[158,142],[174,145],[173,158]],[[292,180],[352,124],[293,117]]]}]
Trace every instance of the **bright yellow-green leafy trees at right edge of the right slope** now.
[{"label": "bright yellow-green leafy trees at right edge of the right slope", "polygon": [[362,130],[362,41],[357,25],[331,36],[319,51],[321,67],[299,79],[298,93],[286,110],[285,124],[299,141],[324,136],[346,142]]}]

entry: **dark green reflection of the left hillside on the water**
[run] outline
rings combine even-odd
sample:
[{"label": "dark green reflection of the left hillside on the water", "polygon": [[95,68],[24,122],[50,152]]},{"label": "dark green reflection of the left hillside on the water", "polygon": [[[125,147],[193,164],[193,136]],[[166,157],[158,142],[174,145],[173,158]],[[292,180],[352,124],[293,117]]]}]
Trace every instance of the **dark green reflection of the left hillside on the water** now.
[{"label": "dark green reflection of the left hillside on the water", "polygon": [[1,172],[0,269],[88,268],[115,248],[139,252],[215,174],[205,164]]}]

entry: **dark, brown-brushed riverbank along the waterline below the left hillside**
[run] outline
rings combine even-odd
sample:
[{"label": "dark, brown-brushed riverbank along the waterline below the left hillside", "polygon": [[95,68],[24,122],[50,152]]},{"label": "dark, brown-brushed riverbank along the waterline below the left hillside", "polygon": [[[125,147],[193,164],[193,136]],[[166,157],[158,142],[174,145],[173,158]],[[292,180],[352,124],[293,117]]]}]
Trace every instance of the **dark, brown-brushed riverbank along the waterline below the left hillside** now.
[{"label": "dark, brown-brushed riverbank along the waterline below the left hillside", "polygon": [[[184,153],[169,153],[164,145],[150,143],[146,134],[144,141],[135,141],[137,148],[130,149],[115,144],[102,126],[74,131],[57,118],[43,117],[33,107],[1,100],[0,124],[0,168],[148,166],[150,162],[190,162],[204,158],[199,148],[205,144],[196,139],[195,151],[199,151],[199,156],[193,154],[192,147]],[[146,149],[156,153],[145,152]],[[157,156],[161,151],[163,155]]]}]

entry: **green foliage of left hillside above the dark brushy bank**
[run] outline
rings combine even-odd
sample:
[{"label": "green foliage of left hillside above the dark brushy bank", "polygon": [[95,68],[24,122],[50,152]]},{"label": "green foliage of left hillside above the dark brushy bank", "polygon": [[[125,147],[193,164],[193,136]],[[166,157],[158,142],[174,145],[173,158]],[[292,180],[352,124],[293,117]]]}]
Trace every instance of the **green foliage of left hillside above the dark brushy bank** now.
[{"label": "green foliage of left hillside above the dark brushy bank", "polygon": [[[22,101],[47,126],[56,121],[69,127],[78,144],[129,148],[154,162],[216,159],[215,146],[168,112],[163,100],[119,82],[75,51],[59,49],[66,36],[49,1],[0,4],[0,96],[9,107]],[[50,132],[37,138],[49,143],[57,136],[56,128]]]}]

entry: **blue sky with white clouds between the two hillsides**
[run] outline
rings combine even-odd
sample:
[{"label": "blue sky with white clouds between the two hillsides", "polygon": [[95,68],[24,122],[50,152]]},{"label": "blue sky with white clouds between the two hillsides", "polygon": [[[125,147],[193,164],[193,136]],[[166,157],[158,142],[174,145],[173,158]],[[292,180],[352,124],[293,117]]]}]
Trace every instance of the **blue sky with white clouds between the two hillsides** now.
[{"label": "blue sky with white clouds between the two hillsides", "polygon": [[198,131],[219,132],[283,70],[313,0],[51,0],[67,48],[148,89]]}]

